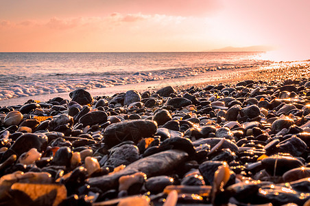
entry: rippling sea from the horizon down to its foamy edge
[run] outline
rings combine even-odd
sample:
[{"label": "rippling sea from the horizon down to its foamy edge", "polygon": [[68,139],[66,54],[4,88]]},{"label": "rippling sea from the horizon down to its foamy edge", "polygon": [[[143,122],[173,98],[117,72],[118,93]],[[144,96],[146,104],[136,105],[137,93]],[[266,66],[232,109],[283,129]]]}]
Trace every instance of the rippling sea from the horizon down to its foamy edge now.
[{"label": "rippling sea from the horizon down to its foamy edge", "polygon": [[0,53],[1,100],[100,89],[272,63],[265,52]]}]

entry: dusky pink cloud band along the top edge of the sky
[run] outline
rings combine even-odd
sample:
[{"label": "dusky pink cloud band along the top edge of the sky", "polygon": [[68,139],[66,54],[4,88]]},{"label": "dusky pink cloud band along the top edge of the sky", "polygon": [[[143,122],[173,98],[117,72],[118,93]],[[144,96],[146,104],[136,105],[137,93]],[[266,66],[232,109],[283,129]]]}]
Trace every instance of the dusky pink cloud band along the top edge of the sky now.
[{"label": "dusky pink cloud band along the top edge of the sky", "polygon": [[222,0],[53,0],[3,1],[4,19],[47,19],[51,16],[103,16],[121,14],[164,14],[167,16],[206,16],[222,8]]}]

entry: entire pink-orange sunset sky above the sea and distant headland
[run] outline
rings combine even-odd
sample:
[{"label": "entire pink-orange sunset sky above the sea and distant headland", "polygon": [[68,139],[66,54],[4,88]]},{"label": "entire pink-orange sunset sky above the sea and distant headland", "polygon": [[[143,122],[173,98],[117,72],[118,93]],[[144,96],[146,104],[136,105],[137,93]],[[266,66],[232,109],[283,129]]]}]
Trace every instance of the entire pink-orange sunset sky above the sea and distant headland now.
[{"label": "entire pink-orange sunset sky above the sea and distant headland", "polygon": [[0,0],[0,52],[202,52],[310,58],[308,0]]}]

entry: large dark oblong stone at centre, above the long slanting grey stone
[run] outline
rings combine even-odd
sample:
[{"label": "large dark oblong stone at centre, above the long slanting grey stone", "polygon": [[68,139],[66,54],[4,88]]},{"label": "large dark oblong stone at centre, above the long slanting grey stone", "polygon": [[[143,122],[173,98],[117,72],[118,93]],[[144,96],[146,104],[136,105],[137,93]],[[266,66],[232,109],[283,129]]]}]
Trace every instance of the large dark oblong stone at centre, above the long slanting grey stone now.
[{"label": "large dark oblong stone at centre, above the long slanting grey stone", "polygon": [[156,122],[132,120],[111,124],[104,130],[104,142],[111,148],[123,141],[138,143],[143,137],[153,137],[157,130]]}]

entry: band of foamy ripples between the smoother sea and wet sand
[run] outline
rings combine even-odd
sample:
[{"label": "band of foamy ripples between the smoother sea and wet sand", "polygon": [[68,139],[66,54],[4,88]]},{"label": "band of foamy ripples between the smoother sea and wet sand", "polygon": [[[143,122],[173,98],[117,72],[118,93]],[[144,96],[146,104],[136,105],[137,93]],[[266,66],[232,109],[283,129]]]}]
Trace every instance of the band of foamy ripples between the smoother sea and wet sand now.
[{"label": "band of foamy ripples between the smoother sea and wet sand", "polygon": [[[267,64],[267,63],[266,63]],[[175,80],[200,76],[209,71],[222,71],[228,69],[252,68],[259,65],[227,65],[224,67],[187,67],[182,69],[163,69],[158,71],[113,73],[86,73],[86,74],[49,74],[33,78],[14,80],[16,84],[3,82],[0,87],[0,101],[10,98],[29,97],[34,95],[47,95],[51,93],[65,93],[74,89],[102,89],[125,84],[140,82],[153,82],[160,80]],[[12,75],[12,78],[17,78]]]}]

